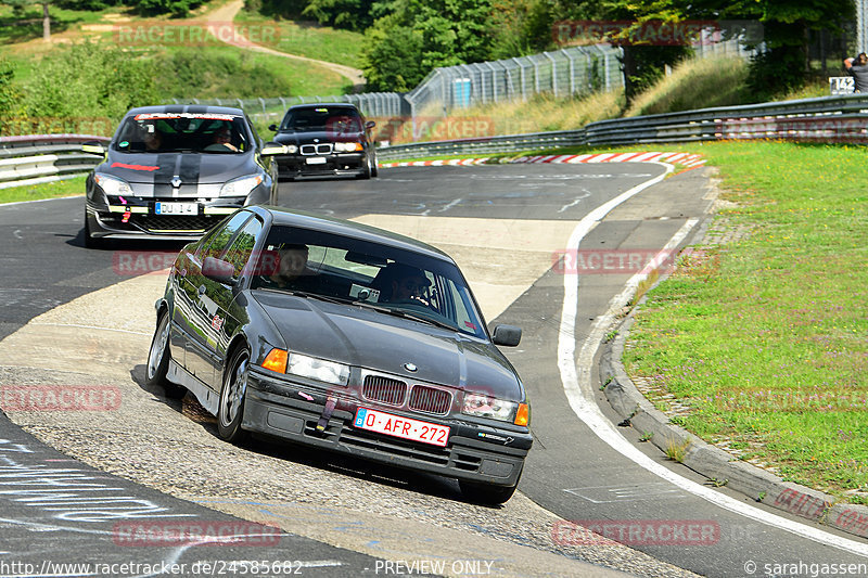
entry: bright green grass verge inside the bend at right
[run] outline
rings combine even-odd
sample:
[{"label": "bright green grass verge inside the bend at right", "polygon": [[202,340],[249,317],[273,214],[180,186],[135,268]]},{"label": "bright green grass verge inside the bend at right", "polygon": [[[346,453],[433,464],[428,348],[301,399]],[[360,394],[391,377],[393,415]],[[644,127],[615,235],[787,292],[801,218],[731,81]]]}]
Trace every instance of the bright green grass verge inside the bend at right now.
[{"label": "bright green grass verge inside the bend at right", "polygon": [[[868,167],[861,147],[691,145],[719,167],[717,227],[649,294],[625,363],[674,422],[783,478],[868,496]],[[841,179],[846,167],[846,179]],[[859,492],[858,490],[861,490]]]}]

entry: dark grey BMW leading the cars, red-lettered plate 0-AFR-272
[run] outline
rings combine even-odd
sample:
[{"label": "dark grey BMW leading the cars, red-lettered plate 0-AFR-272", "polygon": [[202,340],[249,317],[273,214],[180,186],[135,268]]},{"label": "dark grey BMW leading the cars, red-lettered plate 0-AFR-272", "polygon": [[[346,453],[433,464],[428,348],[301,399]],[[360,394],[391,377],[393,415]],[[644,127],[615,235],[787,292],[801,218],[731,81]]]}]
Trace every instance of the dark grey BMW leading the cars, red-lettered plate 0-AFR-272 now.
[{"label": "dark grey BMW leading the cars, red-lettered plate 0-AFR-272", "polygon": [[247,433],[512,496],[533,438],[515,370],[455,261],[349,221],[239,210],[178,256],[146,381],[190,390],[220,437]]}]

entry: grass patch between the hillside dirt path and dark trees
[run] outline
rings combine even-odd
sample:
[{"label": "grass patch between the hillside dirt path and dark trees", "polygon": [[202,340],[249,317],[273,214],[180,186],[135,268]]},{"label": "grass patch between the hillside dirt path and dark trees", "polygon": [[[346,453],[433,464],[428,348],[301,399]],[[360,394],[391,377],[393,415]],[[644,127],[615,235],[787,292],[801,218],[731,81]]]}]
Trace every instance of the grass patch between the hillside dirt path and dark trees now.
[{"label": "grass patch between the hillside dirt path and dark trees", "polygon": [[308,22],[273,21],[246,11],[238,14],[235,23],[261,27],[260,43],[268,48],[354,68],[361,67],[365,35],[360,33]]}]

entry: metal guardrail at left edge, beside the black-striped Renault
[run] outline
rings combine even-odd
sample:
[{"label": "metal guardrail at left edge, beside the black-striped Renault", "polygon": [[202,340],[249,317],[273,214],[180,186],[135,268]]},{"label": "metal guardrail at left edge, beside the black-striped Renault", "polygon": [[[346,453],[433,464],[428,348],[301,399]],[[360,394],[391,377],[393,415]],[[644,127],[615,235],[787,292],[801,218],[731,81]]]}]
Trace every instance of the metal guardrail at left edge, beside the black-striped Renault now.
[{"label": "metal guardrail at left edge, beside the black-striped Renault", "polygon": [[81,152],[87,141],[108,142],[92,134],[0,137],[0,189],[71,179],[102,162]]}]

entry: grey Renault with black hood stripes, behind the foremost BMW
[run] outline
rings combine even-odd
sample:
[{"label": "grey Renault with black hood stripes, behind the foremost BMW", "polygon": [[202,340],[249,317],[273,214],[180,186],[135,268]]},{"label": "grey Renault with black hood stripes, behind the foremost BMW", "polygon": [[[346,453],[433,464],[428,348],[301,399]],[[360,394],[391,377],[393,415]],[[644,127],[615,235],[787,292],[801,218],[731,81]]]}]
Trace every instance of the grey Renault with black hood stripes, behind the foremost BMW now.
[{"label": "grey Renault with black hood stripes, behind the foremost BMW", "polygon": [[87,179],[85,243],[199,237],[239,207],[276,203],[277,168],[243,111],[145,106],[129,111]]}]

